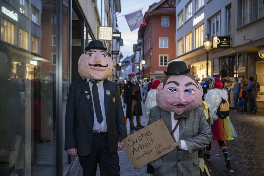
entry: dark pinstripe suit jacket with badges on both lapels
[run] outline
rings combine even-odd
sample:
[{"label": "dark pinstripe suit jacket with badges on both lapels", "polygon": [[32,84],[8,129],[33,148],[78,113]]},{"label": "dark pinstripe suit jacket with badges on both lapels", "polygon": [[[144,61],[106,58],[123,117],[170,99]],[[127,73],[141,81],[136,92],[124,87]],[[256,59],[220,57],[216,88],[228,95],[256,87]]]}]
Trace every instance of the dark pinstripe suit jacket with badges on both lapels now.
[{"label": "dark pinstripe suit jacket with badges on both lapels", "polygon": [[[122,102],[115,82],[104,80],[104,108],[111,153],[116,152],[117,142],[127,137]],[[110,91],[110,95],[106,94]],[[86,93],[87,92],[87,93]],[[93,141],[94,110],[91,90],[86,79],[70,85],[65,116],[65,150],[77,148],[78,155],[91,152]]]}]

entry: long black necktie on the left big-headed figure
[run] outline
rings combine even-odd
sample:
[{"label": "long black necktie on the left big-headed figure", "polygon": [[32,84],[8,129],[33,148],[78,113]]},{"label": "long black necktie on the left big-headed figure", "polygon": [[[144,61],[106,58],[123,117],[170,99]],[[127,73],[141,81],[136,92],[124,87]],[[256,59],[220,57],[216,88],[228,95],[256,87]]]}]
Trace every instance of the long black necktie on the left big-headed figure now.
[{"label": "long black necktie on the left big-headed figure", "polygon": [[101,123],[103,121],[103,114],[102,114],[102,110],[101,110],[98,87],[97,87],[98,81],[91,80],[91,82],[93,84],[92,92],[93,92],[93,100],[94,100],[94,110],[95,110],[95,114],[96,114],[96,118],[97,118],[98,123]]}]

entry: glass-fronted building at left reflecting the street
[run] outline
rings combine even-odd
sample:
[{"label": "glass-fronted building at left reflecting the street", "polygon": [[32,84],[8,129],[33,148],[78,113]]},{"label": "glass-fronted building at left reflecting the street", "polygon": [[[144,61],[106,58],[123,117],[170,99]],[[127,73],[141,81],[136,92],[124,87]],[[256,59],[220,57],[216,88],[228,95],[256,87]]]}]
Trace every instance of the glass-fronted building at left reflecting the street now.
[{"label": "glass-fronted building at left reflecting the street", "polygon": [[109,25],[109,4],[120,7],[100,2],[0,0],[0,175],[67,175],[76,159],[64,150],[68,88],[82,79],[85,46]]}]

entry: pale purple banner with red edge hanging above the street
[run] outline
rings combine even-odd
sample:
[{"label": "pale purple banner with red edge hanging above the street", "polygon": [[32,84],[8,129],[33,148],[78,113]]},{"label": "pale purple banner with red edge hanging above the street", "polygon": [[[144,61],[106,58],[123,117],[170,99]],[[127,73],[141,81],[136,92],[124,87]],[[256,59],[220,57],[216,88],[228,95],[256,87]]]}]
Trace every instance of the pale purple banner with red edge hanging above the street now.
[{"label": "pale purple banner with red edge hanging above the street", "polygon": [[125,18],[130,31],[134,31],[136,28],[141,26],[146,26],[146,22],[141,10],[125,15]]}]

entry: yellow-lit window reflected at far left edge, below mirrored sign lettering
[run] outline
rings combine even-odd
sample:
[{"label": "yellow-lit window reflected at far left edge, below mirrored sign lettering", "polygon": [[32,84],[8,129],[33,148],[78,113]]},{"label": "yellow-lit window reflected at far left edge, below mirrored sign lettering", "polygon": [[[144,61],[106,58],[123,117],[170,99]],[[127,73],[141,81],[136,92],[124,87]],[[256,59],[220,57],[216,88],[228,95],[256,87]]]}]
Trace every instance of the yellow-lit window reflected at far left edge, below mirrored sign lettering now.
[{"label": "yellow-lit window reflected at far left edge, below mirrored sign lettering", "polygon": [[1,40],[15,45],[15,25],[6,19],[1,19]]}]

